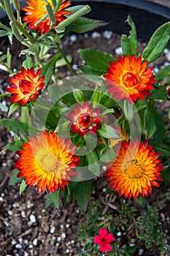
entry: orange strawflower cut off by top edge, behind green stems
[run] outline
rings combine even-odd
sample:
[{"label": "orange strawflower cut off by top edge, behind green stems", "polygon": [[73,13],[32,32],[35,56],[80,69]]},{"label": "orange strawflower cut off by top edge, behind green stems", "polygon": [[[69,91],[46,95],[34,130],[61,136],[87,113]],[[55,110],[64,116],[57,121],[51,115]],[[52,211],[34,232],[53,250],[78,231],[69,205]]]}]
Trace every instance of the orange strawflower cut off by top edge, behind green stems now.
[{"label": "orange strawflower cut off by top edge, behind green stems", "polygon": [[[26,12],[26,16],[23,18],[23,21],[25,23],[28,23],[28,29],[36,29],[36,31],[39,32],[39,34],[47,33],[50,29],[50,26],[52,25],[50,17],[47,16],[45,20],[42,20],[37,26],[36,23],[41,20],[45,15],[47,15],[47,10],[45,8],[46,3],[49,3],[51,7],[53,8],[53,4],[51,0],[29,0],[26,1],[26,4],[28,4],[27,7],[23,7],[23,11]],[[71,1],[63,0],[61,1],[60,7],[58,8],[58,11],[55,12],[55,20],[56,23],[53,24],[53,26],[58,26],[58,23],[60,23],[63,20],[66,20],[65,15],[69,15],[72,12],[64,10],[67,7],[71,5]]]}]

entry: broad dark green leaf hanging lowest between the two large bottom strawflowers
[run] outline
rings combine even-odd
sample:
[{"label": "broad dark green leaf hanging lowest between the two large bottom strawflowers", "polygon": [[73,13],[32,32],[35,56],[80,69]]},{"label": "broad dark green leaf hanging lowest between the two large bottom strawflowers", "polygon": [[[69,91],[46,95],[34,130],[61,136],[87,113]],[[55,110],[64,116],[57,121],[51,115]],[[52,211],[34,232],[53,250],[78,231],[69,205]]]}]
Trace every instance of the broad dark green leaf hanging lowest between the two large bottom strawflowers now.
[{"label": "broad dark green leaf hanging lowest between the two large bottom strawflowers", "polygon": [[88,201],[90,198],[91,191],[93,189],[93,179],[88,181],[82,181],[74,187],[73,193],[77,200],[77,203],[82,208],[82,211],[87,211]]}]

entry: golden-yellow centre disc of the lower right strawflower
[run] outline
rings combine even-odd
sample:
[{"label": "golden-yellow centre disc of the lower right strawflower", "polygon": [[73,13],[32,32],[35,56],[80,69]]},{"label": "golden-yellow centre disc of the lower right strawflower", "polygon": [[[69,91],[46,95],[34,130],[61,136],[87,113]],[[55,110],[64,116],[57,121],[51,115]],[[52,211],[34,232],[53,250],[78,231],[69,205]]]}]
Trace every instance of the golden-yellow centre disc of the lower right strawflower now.
[{"label": "golden-yellow centre disc of the lower right strawflower", "polygon": [[137,160],[125,162],[123,170],[128,178],[140,178],[144,173],[142,165]]}]

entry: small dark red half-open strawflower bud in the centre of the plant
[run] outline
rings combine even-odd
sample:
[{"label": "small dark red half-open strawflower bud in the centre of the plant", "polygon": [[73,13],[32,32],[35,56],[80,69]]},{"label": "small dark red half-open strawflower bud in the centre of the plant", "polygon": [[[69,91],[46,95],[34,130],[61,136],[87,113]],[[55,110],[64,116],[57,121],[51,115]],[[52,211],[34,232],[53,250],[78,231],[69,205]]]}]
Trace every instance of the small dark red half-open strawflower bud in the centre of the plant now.
[{"label": "small dark red half-open strawflower bud in the centre of the plant", "polygon": [[71,110],[68,118],[71,120],[69,126],[73,132],[78,132],[80,137],[83,137],[86,132],[93,132],[96,134],[97,129],[101,128],[101,113],[100,108],[93,108],[92,103],[85,100],[82,105],[75,104],[75,110]]}]

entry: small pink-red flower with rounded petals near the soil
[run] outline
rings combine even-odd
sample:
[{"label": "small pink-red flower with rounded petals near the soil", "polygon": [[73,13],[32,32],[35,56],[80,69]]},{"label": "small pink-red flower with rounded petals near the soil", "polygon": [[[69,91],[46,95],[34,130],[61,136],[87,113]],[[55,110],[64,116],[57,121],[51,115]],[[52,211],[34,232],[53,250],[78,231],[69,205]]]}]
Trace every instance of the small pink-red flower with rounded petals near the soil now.
[{"label": "small pink-red flower with rounded petals near the soil", "polygon": [[100,252],[109,252],[111,251],[112,247],[109,243],[112,241],[115,241],[115,237],[112,235],[112,233],[107,233],[106,228],[100,228],[98,231],[99,236],[94,236],[93,243],[94,244],[99,244]]}]

